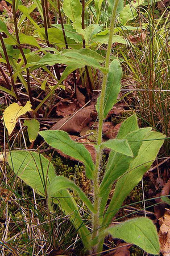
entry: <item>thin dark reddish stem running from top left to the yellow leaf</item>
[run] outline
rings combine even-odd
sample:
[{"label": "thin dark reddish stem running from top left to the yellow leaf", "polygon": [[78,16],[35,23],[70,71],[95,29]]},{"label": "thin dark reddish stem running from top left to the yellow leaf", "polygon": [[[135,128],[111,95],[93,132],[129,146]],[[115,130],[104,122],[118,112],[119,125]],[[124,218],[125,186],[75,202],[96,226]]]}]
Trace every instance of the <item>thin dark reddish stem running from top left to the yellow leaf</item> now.
[{"label": "thin dark reddish stem running from top left to the yellow leaf", "polygon": [[[24,64],[27,65],[27,59],[26,59],[26,56],[24,55],[23,48],[22,48],[22,46],[20,44],[20,40],[19,40],[18,27],[17,27],[17,21],[16,21],[15,0],[13,0],[13,17],[14,17],[15,34],[16,34],[16,41],[18,43],[18,48],[19,48],[22,58],[24,60]],[[34,100],[32,97],[31,86],[30,86],[30,70],[29,70],[29,68],[26,68],[26,72],[27,72],[28,95],[30,97],[32,108],[34,109]]]}]

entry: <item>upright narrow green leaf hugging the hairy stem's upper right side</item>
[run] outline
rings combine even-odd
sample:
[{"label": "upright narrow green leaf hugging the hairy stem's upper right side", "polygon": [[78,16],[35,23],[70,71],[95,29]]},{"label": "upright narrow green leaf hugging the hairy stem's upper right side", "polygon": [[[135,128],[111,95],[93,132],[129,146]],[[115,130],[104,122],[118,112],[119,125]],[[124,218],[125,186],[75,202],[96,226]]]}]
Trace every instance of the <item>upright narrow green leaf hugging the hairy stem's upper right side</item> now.
[{"label": "upright narrow green leaf hugging the hairy stem's upper right side", "polygon": [[[111,62],[109,67],[109,73],[107,76],[107,86],[105,93],[105,104],[104,104],[104,117],[107,116],[110,109],[113,107],[115,103],[117,103],[117,98],[119,91],[121,89],[121,78],[122,78],[122,68],[119,60],[114,59]],[[99,111],[99,100],[100,96],[97,100],[96,109]]]}]

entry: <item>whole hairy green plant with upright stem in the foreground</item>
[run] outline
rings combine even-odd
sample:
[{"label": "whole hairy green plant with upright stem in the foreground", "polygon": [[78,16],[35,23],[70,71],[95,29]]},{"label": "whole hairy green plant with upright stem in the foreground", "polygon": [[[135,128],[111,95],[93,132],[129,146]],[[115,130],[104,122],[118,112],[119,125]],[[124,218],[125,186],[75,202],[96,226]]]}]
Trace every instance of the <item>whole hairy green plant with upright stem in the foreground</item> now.
[{"label": "whole hairy green plant with upright stem in the foreground", "polygon": [[[70,2],[72,3],[72,1]],[[85,249],[100,255],[106,235],[134,243],[150,254],[159,253],[159,239],[154,224],[148,218],[133,218],[129,221],[110,226],[111,220],[121,208],[121,205],[131,190],[141,180],[143,174],[150,168],[165,136],[151,131],[151,128],[139,129],[136,115],[123,121],[116,139],[102,142],[102,125],[112,106],[117,102],[121,87],[122,69],[118,60],[110,63],[111,45],[115,17],[119,0],[115,0],[110,23],[109,41],[105,67],[100,67],[103,72],[101,95],[97,101],[98,112],[98,140],[96,145],[96,163],[94,164],[90,153],[82,144],[72,141],[64,131],[42,131],[39,134],[51,147],[59,149],[68,156],[81,161],[86,168],[86,177],[93,182],[93,204],[84,192],[72,181],[63,176],[56,176],[51,162],[36,152],[12,151],[8,161],[14,172],[42,196],[48,198],[49,209],[53,211],[53,204],[59,205],[65,214],[69,214],[75,229],[78,231]],[[71,19],[75,18],[70,17]],[[85,36],[80,27],[80,20],[75,19],[74,29]],[[85,37],[84,37],[85,38]],[[99,67],[96,60],[92,62],[87,52],[81,54],[77,51],[64,51],[62,54],[46,54],[39,62],[55,64],[62,59],[65,63],[72,63],[68,67],[73,70],[77,60],[81,59],[82,65]],[[74,60],[74,63],[73,63]],[[90,62],[92,62],[90,64]],[[37,65],[37,63],[36,63]],[[64,71],[66,72],[66,71]],[[110,148],[109,159],[106,164],[105,174],[99,184],[102,152]],[[117,180],[113,197],[105,211],[107,199],[113,183]],[[92,213],[92,232],[86,227],[81,218],[76,201],[71,191],[78,194]]]}]

